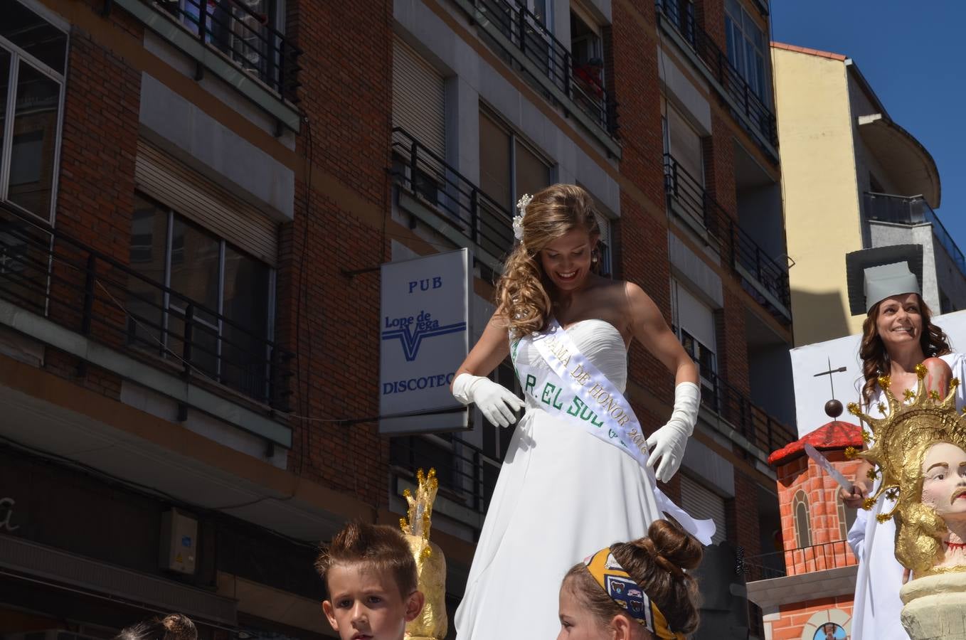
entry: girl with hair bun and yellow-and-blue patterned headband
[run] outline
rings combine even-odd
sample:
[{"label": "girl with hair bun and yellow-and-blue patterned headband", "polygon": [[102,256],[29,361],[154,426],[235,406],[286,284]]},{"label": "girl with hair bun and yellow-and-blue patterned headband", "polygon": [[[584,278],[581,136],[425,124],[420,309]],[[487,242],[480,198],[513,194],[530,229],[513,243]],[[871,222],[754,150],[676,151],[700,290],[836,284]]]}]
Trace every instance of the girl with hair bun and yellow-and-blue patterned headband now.
[{"label": "girl with hair bun and yellow-and-blue patterned headband", "polygon": [[669,520],[652,522],[647,538],[597,551],[563,578],[557,640],[683,640],[698,624],[697,583],[686,571],[701,553]]}]

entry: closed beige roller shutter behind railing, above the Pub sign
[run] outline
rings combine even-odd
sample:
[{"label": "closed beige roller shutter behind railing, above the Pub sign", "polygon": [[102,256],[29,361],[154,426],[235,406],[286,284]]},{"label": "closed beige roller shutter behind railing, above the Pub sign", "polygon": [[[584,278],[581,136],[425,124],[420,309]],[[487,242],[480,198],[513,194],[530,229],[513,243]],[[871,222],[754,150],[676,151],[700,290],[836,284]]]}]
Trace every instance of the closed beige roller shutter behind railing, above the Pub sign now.
[{"label": "closed beige roller shutter behind railing, above the Pub sign", "polygon": [[446,158],[446,92],[442,76],[398,37],[392,47],[392,125]]}]

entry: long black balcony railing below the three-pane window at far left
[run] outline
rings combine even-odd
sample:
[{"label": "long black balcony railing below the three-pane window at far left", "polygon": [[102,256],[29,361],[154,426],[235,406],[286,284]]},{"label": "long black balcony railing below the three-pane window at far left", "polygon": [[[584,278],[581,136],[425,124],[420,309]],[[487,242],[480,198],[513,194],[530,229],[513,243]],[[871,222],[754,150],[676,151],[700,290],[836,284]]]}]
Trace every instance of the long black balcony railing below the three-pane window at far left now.
[{"label": "long black balcony railing below the three-pane window at far left", "polygon": [[289,410],[292,353],[63,232],[14,216],[0,218],[0,298],[174,375]]}]

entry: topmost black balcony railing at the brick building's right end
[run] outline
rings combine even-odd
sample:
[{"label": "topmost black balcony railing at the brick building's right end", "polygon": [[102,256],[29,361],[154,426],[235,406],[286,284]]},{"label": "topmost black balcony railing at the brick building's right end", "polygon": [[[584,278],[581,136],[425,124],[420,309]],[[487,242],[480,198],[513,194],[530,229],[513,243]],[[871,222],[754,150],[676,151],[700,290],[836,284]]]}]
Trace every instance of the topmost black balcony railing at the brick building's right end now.
[{"label": "topmost black balcony railing at the brick building's right end", "polygon": [[731,65],[727,54],[697,25],[694,5],[687,0],[657,0],[656,6],[658,14],[664,17],[664,22],[695,51],[712,77],[725,90],[727,97],[731,98],[734,107],[752,124],[754,132],[761,135],[772,147],[778,148],[779,133],[775,114]]}]

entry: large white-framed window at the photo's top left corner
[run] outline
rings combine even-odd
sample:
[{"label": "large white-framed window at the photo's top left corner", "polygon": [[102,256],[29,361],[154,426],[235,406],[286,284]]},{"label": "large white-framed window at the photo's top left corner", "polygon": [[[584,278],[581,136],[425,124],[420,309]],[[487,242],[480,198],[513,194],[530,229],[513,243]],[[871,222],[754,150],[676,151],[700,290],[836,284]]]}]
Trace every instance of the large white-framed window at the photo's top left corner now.
[{"label": "large white-framed window at the photo's top left corner", "polygon": [[0,198],[53,221],[67,34],[18,2],[0,20]]}]

